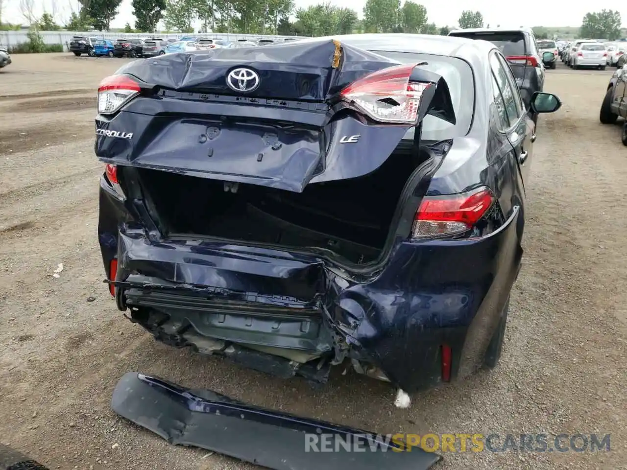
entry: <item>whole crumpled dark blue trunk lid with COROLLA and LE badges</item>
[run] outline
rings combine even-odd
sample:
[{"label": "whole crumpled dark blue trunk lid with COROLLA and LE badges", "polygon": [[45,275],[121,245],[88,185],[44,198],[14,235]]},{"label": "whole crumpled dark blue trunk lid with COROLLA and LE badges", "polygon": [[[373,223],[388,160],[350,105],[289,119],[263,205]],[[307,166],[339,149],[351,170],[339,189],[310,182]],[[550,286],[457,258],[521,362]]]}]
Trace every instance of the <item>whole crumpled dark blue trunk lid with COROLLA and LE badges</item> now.
[{"label": "whole crumpled dark blue trunk lid with COROLLA and LE badges", "polygon": [[[95,152],[110,164],[295,192],[366,175],[415,124],[372,123],[342,107],[339,92],[394,65],[329,39],[134,61],[118,73],[146,83],[152,94],[134,98],[112,119],[97,118]],[[250,92],[227,83],[242,68],[258,74],[260,83]],[[420,66],[415,70],[418,81],[433,85],[423,93],[420,117],[432,102],[445,103],[439,115],[452,116],[454,123],[446,82]],[[132,137],[112,138],[102,130]]]}]

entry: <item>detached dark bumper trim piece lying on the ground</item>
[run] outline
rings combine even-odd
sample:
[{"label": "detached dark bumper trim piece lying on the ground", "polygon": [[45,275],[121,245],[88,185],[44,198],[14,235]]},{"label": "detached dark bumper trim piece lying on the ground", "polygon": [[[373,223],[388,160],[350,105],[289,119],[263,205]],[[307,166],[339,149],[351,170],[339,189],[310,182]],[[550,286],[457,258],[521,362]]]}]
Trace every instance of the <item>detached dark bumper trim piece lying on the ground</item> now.
[{"label": "detached dark bumper trim piece lying on the ground", "polygon": [[384,442],[376,450],[366,447],[361,452],[342,446],[333,452],[307,452],[306,434],[330,435],[333,442],[376,434],[253,407],[211,390],[184,389],[137,372],[120,379],[111,407],[172,444],[201,447],[275,470],[427,470],[441,459],[418,447],[393,450],[393,443]]}]

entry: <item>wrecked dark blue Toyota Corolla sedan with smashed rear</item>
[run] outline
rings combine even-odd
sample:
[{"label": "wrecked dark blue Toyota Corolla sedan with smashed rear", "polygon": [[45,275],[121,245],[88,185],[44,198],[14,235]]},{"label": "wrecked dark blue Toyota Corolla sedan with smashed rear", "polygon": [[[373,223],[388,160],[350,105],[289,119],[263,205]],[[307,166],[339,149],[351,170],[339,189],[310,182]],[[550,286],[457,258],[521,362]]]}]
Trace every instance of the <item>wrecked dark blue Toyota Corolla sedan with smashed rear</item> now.
[{"label": "wrecked dark blue Toyota Corolla sedan with smashed rear", "polygon": [[[535,112],[559,98],[535,93]],[[408,392],[500,356],[534,123],[487,41],[302,39],[98,88],[110,293],[157,340]]]}]

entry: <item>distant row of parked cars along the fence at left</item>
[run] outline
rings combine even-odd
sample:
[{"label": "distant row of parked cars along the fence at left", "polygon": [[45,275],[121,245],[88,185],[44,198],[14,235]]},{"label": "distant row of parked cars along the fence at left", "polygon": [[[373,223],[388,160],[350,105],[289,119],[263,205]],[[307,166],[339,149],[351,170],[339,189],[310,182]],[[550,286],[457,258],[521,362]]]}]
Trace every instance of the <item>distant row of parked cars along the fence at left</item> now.
[{"label": "distant row of parked cars along the fence at left", "polygon": [[[285,38],[290,41],[295,38]],[[239,39],[225,41],[224,39],[210,38],[122,38],[110,39],[95,38],[92,36],[73,36],[68,44],[70,52],[75,56],[86,54],[92,57],[154,57],[174,52],[211,50],[219,48],[244,48],[263,46],[274,43],[274,39]]]}]

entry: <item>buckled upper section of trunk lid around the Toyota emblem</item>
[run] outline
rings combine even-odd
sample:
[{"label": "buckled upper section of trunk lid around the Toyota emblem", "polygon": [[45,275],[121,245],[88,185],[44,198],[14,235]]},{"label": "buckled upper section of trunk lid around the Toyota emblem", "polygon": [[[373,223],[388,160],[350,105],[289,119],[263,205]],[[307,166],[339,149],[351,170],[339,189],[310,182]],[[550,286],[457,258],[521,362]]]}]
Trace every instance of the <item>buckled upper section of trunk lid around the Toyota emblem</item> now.
[{"label": "buckled upper section of trunk lid around the Toyota emblem", "polygon": [[256,71],[260,85],[246,97],[324,101],[357,78],[397,62],[339,41],[271,44],[258,48],[215,48],[203,53],[135,61],[118,73],[171,90],[235,93],[227,85],[234,68]]}]

